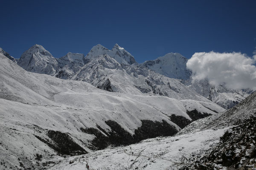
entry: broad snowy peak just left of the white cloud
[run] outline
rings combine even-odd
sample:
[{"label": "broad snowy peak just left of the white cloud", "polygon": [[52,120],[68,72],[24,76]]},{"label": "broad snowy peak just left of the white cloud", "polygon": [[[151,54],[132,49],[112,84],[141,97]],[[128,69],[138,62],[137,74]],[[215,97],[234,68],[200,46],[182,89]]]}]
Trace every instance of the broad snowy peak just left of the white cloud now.
[{"label": "broad snowy peak just left of the white cloud", "polygon": [[189,79],[191,71],[186,68],[187,58],[179,53],[168,53],[163,57],[143,62],[141,65],[174,79]]}]

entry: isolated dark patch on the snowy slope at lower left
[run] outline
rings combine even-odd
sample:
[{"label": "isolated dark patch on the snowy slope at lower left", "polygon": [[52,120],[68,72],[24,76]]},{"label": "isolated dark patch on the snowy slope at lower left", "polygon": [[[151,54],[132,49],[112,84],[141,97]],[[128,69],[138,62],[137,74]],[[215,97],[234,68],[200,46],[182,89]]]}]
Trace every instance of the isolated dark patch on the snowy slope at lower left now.
[{"label": "isolated dark patch on the snowy slope at lower left", "polygon": [[54,142],[52,147],[54,147],[58,153],[71,156],[87,153],[84,148],[74,142],[74,140],[67,133],[49,130],[47,136]]}]

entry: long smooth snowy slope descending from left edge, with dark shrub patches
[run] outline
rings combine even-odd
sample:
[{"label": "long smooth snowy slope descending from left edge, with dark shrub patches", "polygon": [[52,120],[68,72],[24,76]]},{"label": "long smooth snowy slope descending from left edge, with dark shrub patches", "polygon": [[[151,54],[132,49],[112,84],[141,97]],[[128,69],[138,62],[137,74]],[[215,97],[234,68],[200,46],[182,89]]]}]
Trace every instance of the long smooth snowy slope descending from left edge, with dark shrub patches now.
[{"label": "long smooth snowy slope descending from left edge, with dark shrub patches", "polygon": [[113,93],[27,72],[2,54],[0,79],[0,168],[41,169],[64,155],[170,136],[177,116],[191,122],[195,109],[199,117],[224,110],[207,99]]}]

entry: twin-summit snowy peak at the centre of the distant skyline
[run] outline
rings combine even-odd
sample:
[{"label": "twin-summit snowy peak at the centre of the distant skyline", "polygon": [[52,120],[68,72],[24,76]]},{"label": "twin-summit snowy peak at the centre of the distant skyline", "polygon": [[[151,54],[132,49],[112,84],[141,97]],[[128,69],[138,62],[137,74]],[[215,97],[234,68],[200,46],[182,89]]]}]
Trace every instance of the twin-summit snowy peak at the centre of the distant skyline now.
[{"label": "twin-summit snowy peak at the centre of the distant skyline", "polygon": [[109,50],[108,48],[105,48],[102,45],[98,44],[90,50],[90,52],[86,55],[86,58],[92,59],[93,57],[104,54],[108,54],[120,64],[123,63],[131,65],[136,63],[134,57],[124,48],[120,47],[118,44],[115,44],[112,50]]}]

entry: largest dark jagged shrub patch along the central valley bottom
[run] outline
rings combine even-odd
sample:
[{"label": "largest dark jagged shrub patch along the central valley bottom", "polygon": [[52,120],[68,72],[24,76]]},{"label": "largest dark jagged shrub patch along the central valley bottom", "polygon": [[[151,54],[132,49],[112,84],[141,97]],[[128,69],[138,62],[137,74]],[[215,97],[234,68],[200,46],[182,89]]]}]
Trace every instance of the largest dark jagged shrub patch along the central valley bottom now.
[{"label": "largest dark jagged shrub patch along the central valley bottom", "polygon": [[[134,135],[127,132],[117,122],[113,120],[105,121],[111,127],[111,131],[106,132],[102,127],[96,125],[96,128],[81,128],[84,133],[93,134],[95,138],[91,141],[95,150],[104,149],[109,145],[120,146],[140,142],[143,139],[154,138],[157,136],[172,136],[178,132],[176,127],[170,125],[165,120],[162,122],[141,120],[142,125],[134,131]],[[105,135],[103,134],[105,133]]]}]

